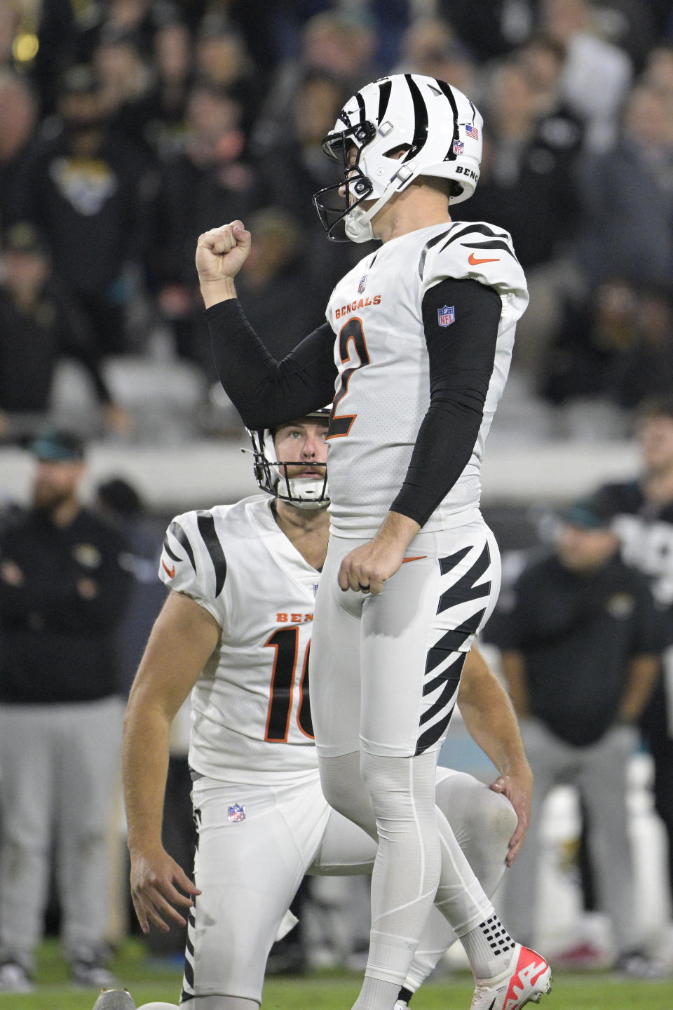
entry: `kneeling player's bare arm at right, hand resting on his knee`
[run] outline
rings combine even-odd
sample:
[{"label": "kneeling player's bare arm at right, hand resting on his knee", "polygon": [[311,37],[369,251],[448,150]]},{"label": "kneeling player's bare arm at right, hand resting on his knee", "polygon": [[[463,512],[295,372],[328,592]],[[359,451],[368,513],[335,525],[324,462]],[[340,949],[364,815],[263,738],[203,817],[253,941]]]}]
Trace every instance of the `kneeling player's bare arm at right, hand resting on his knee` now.
[{"label": "kneeling player's bare arm at right, hand resting on his knee", "polygon": [[507,856],[512,866],[531,822],[533,773],[510,697],[474,645],[465,659],[458,706],[470,736],[500,773],[490,788],[503,793],[517,813]]}]

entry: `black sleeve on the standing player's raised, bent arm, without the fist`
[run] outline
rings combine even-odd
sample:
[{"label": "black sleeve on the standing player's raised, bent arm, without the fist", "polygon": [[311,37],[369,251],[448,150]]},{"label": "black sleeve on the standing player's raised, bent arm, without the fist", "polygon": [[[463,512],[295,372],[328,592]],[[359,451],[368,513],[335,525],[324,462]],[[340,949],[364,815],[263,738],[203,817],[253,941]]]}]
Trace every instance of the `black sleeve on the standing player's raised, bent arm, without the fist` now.
[{"label": "black sleeve on the standing player's raised, bent arm, without the fist", "polygon": [[254,332],[237,298],[206,310],[215,368],[248,428],[283,424],[334,399],[334,332],[314,329],[276,362]]}]

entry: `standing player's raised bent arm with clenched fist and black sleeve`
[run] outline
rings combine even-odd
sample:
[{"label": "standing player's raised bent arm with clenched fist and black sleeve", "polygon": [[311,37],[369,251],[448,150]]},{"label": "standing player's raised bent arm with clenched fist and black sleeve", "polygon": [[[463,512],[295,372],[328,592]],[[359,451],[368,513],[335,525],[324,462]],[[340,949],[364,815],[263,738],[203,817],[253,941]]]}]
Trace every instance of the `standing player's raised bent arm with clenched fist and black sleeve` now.
[{"label": "standing player's raised bent arm with clenched fist and black sleeve", "polygon": [[268,354],[236,297],[249,250],[249,231],[233,221],[200,235],[196,263],[220,382],[247,427],[263,428],[331,403],[337,369],[327,323],[282,362]]}]

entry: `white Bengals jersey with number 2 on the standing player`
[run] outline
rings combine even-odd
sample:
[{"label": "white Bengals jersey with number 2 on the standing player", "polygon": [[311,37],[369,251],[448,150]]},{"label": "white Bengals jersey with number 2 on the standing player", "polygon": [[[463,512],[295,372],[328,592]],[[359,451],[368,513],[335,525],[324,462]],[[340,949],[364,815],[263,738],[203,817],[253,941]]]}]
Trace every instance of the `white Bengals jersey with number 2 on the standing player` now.
[{"label": "white Bengals jersey with number 2 on the standing player", "polygon": [[[405,481],[430,406],[423,298],[447,278],[488,285],[499,294],[502,310],[472,457],[423,528],[458,525],[460,513],[468,515],[478,507],[484,442],[508,377],[528,289],[507,231],[483,222],[455,221],[384,242],[346,274],[327,306],[327,320],[337,334],[336,398],[341,396],[328,441],[330,516],[342,536],[373,535]],[[452,311],[453,306],[446,306],[442,325],[451,325]]]}]

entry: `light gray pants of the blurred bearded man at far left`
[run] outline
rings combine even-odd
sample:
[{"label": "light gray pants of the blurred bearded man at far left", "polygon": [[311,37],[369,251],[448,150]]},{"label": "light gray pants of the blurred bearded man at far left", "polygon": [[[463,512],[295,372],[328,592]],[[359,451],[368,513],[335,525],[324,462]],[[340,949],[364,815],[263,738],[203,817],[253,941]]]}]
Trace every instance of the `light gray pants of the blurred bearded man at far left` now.
[{"label": "light gray pants of the blurred bearded man at far left", "polygon": [[118,698],[0,706],[0,956],[32,968],[54,843],[67,955],[104,942],[122,712]]}]

